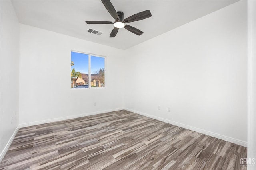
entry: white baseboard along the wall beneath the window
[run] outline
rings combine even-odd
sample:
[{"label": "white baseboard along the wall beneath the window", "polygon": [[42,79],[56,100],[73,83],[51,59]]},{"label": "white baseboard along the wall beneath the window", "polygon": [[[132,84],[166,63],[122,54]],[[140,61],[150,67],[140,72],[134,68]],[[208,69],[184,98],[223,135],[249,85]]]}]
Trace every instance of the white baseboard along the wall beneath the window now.
[{"label": "white baseboard along the wall beneath the window", "polygon": [[109,110],[104,110],[104,111],[96,111],[96,112],[84,113],[84,114],[80,114],[80,115],[72,115],[72,116],[60,117],[60,118],[56,118],[56,119],[47,119],[47,120],[42,120],[42,121],[30,122],[30,123],[22,123],[22,124],[20,124],[20,128],[28,127],[28,126],[34,126],[34,125],[40,125],[40,124],[44,124],[44,123],[51,123],[51,122],[55,122],[55,121],[62,121],[62,120],[67,120],[67,119],[75,119],[75,118],[78,118],[78,117],[97,115],[97,114],[101,114],[101,113],[108,113],[108,112],[118,111],[118,110],[123,110],[123,109],[124,108],[109,109]]}]

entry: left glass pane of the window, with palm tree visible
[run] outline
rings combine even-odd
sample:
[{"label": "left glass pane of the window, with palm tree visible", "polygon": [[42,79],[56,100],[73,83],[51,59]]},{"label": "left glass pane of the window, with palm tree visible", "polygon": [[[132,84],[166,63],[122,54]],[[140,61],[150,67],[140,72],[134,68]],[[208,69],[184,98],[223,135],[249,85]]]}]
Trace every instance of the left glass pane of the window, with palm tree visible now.
[{"label": "left glass pane of the window, with palm tree visible", "polygon": [[88,88],[88,54],[71,52],[71,88]]}]

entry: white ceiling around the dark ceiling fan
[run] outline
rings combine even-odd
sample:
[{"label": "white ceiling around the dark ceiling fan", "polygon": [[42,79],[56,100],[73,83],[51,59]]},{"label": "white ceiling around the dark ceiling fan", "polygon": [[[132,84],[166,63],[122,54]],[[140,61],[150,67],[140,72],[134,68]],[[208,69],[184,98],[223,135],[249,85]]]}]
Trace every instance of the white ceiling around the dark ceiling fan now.
[{"label": "white ceiling around the dark ceiling fan", "polygon": [[[12,0],[20,23],[70,35],[95,43],[128,49],[176,27],[196,20],[238,0],[111,0],[124,18],[144,10],[152,17],[128,23],[144,33],[140,36],[119,29],[109,38],[113,24],[88,25],[85,21],[113,21],[100,0]],[[88,33],[88,29],[102,31],[102,35]]]}]

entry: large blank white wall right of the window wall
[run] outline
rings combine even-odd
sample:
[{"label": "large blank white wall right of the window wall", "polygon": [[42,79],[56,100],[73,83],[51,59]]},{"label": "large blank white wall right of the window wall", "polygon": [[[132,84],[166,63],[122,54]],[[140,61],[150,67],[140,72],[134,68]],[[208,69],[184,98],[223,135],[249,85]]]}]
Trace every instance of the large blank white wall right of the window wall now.
[{"label": "large blank white wall right of the window wall", "polygon": [[126,50],[125,107],[246,145],[246,8],[236,2]]}]

